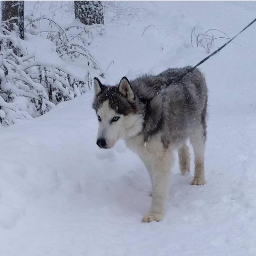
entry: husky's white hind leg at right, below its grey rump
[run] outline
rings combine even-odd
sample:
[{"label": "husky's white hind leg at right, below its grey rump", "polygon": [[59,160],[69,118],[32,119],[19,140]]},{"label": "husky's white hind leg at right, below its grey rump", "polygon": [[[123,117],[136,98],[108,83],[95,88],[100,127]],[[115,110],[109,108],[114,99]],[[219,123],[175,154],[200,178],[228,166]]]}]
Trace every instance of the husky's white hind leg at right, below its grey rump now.
[{"label": "husky's white hind leg at right, below its grey rump", "polygon": [[197,125],[195,132],[190,137],[191,144],[195,155],[195,174],[191,181],[191,185],[203,185],[206,181],[204,179],[204,150],[205,137],[204,127],[200,123]]}]

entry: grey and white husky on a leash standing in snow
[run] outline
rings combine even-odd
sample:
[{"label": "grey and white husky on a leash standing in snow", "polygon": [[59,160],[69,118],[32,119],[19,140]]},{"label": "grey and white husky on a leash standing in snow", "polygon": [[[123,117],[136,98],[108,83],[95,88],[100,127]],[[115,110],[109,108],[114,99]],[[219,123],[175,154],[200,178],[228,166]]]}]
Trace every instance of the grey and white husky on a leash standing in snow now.
[{"label": "grey and white husky on a leash standing in snow", "polygon": [[144,75],[131,81],[123,77],[115,86],[103,85],[94,78],[93,108],[99,120],[97,145],[112,148],[122,138],[148,170],[152,204],[143,222],[163,220],[175,149],[181,174],[189,172],[188,138],[195,155],[191,184],[205,183],[207,87],[199,69],[183,76],[190,69],[169,68],[157,76]]}]

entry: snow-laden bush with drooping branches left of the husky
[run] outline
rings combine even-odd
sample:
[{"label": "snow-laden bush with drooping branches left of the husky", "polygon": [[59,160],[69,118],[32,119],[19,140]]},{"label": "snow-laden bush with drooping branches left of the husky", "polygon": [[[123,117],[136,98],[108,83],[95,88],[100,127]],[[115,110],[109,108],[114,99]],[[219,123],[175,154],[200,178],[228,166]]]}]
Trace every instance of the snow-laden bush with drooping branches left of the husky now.
[{"label": "snow-laden bush with drooping branches left of the husky", "polygon": [[43,115],[84,93],[91,86],[89,72],[87,76],[87,82],[78,81],[66,70],[36,61],[17,30],[10,32],[0,23],[0,124]]}]

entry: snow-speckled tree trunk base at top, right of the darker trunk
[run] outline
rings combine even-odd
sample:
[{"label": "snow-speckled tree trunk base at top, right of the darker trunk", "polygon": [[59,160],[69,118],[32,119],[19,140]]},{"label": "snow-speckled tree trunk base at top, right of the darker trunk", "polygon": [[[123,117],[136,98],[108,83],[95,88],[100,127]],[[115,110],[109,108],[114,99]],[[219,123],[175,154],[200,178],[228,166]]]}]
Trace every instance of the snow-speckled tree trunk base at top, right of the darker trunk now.
[{"label": "snow-speckled tree trunk base at top, right of the darker trunk", "polygon": [[104,24],[101,1],[74,1],[75,17],[84,25]]}]

